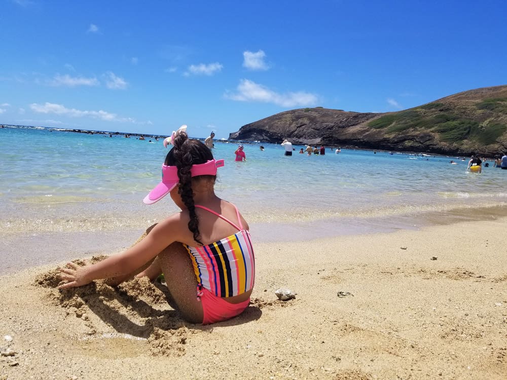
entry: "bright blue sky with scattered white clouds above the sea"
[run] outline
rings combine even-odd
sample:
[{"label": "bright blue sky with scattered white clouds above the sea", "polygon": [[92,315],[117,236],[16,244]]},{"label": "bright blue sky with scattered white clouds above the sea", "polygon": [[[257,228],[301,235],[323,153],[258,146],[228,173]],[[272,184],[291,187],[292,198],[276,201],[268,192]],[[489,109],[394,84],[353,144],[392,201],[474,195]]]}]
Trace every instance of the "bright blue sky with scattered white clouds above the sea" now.
[{"label": "bright blue sky with scattered white clouds above the sea", "polygon": [[0,123],[216,138],[507,84],[507,2],[0,0]]}]

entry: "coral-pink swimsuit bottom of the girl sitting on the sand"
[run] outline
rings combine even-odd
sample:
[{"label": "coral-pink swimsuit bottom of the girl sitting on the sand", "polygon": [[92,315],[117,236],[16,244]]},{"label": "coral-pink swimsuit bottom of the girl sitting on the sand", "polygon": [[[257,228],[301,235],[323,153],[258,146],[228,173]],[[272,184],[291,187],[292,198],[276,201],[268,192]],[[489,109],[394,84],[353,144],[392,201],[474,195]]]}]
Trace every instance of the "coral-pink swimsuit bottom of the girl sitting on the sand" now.
[{"label": "coral-pink swimsuit bottom of the girl sitting on the sand", "polygon": [[243,313],[250,303],[250,298],[240,303],[230,303],[217,297],[202,285],[197,285],[197,299],[202,303],[203,325],[226,321]]}]

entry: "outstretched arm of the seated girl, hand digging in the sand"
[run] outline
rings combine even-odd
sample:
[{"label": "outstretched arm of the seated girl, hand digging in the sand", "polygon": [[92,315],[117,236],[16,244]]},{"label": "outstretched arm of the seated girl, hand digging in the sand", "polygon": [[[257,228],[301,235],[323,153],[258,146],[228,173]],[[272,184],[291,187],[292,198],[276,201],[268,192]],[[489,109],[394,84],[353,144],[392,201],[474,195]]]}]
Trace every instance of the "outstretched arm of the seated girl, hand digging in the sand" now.
[{"label": "outstretched arm of the seated girl, hand digging in the sand", "polygon": [[182,226],[187,229],[186,223],[182,222],[180,213],[177,213],[158,223],[146,237],[124,253],[107,257],[93,265],[85,265],[84,267],[68,262],[69,268],[60,269],[60,278],[66,280],[67,283],[60,285],[59,289],[83,286],[93,280],[134,272],[162,252],[165,247],[175,241],[182,240]]}]

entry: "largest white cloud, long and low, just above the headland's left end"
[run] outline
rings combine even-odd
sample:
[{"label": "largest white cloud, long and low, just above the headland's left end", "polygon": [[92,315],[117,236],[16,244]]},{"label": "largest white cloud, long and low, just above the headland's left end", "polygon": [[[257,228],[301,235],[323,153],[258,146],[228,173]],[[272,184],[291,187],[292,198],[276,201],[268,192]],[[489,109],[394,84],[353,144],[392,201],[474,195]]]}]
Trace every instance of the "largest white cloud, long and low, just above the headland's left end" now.
[{"label": "largest white cloud, long and low, just above the headland's left end", "polygon": [[245,102],[274,103],[282,107],[315,105],[318,100],[316,95],[303,91],[280,94],[248,79],[240,81],[235,94],[226,94],[225,97]]}]

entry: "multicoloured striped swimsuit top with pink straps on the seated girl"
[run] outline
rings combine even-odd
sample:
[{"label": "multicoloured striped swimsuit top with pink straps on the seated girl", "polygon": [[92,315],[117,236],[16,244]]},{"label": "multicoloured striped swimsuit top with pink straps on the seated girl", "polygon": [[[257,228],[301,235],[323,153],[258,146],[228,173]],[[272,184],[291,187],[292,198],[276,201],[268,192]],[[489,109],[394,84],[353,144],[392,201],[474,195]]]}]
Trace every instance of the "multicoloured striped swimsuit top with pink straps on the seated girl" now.
[{"label": "multicoloured striped swimsuit top with pink straps on the seated girl", "polygon": [[239,226],[207,207],[196,205],[230,223],[238,232],[217,242],[191,247],[190,254],[197,282],[217,297],[232,297],[253,288],[255,259],[250,233],[243,229],[236,206]]}]

